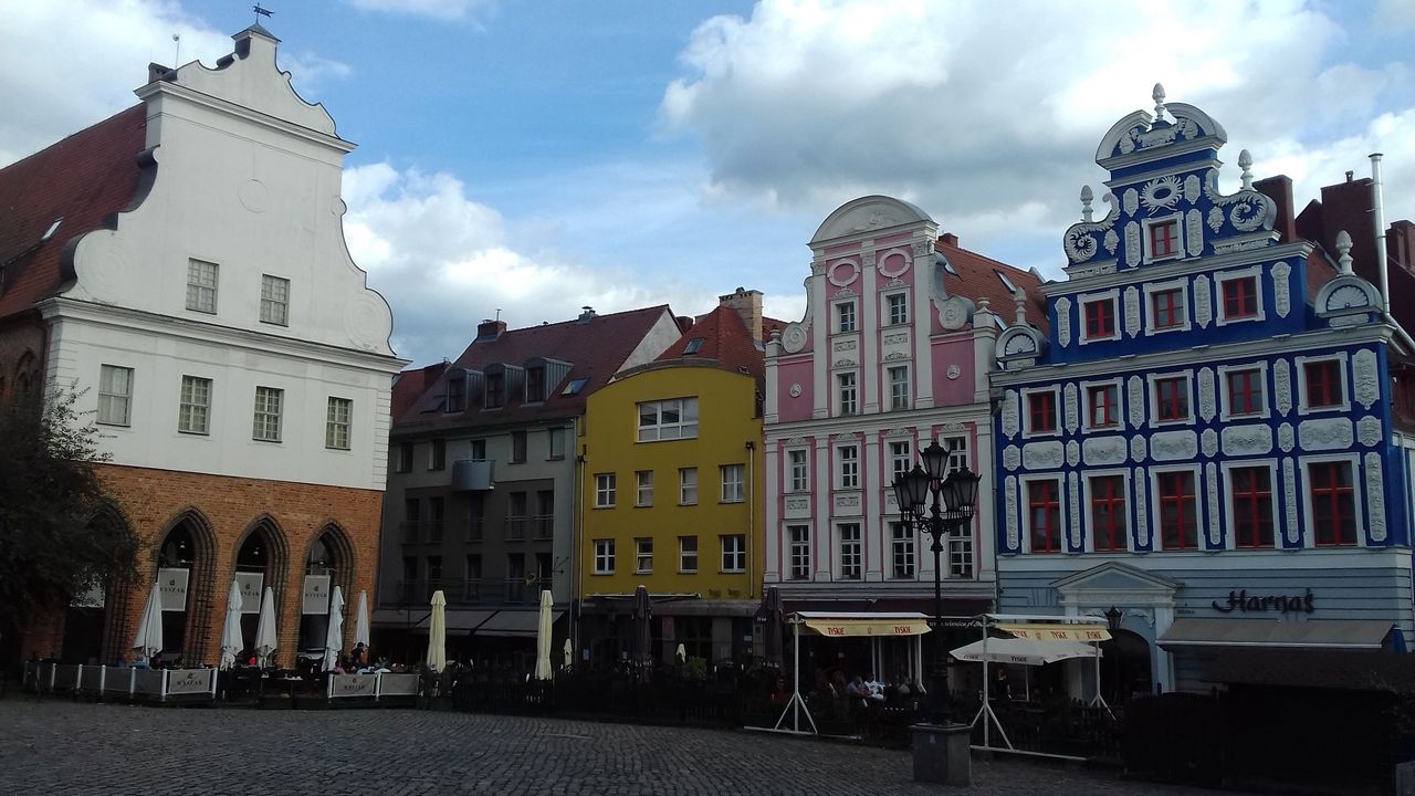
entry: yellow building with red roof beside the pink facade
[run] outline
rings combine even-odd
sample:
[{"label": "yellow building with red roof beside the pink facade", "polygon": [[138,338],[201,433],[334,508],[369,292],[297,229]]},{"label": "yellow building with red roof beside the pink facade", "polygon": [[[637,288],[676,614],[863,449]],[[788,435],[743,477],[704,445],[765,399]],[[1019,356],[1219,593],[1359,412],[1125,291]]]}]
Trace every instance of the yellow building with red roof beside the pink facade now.
[{"label": "yellow building with red roof beside the pink facade", "polygon": [[[753,653],[761,602],[761,293],[723,296],[658,360],[589,397],[576,534],[579,644],[631,650],[633,596],[652,654],[709,664]],[[583,659],[582,659],[583,660]]]}]

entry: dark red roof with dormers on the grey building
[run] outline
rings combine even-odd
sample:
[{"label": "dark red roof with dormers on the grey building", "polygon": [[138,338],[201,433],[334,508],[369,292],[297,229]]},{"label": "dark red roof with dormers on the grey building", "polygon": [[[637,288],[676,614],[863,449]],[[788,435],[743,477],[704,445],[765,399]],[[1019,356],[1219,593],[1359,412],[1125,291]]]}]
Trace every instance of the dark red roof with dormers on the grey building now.
[{"label": "dark red roof with dormers on the grey building", "polygon": [[[654,324],[665,317],[672,322],[668,305],[658,305],[597,314],[583,322],[512,329],[494,339],[473,340],[447,373],[434,380],[409,409],[393,415],[393,432],[522,425],[577,415],[584,411],[584,398],[604,387]],[[447,380],[460,375],[461,368],[485,371],[495,364],[525,367],[539,357],[570,364],[563,378],[556,384],[546,384],[545,401],[526,404],[522,394],[509,397],[499,408],[485,409],[480,397],[468,395],[466,411],[443,411]],[[584,385],[576,394],[565,395],[565,387],[579,378],[586,380]]]}]

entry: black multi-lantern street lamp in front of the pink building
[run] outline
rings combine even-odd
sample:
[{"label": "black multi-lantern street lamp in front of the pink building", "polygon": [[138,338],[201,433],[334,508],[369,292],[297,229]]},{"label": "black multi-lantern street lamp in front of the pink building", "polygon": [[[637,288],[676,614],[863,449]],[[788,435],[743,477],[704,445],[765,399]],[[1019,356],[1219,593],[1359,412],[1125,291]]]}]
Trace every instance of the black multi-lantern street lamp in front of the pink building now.
[{"label": "black multi-lantern street lamp in front of the pink building", "polygon": [[[944,571],[941,554],[944,535],[955,535],[972,521],[978,503],[978,482],[982,479],[968,467],[948,473],[948,450],[935,438],[918,453],[921,465],[894,479],[894,500],[903,523],[921,530],[932,540],[934,551],[934,667],[928,677],[928,697],[924,701],[924,721],[928,724],[951,724],[952,710],[948,700],[948,644],[944,642]],[[932,496],[928,513],[924,504]]]}]

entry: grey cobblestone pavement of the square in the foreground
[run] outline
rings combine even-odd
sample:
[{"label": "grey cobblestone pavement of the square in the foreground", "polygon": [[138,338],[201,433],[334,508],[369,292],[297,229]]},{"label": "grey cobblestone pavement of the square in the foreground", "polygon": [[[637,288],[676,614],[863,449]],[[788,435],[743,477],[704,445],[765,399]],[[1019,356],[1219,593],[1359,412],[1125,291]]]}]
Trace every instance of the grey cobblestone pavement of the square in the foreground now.
[{"label": "grey cobblestone pavement of the square in the foreground", "polygon": [[[412,710],[256,711],[0,700],[0,793],[948,793],[904,751],[724,732]],[[974,761],[978,795],[1199,796],[1111,772]]]}]

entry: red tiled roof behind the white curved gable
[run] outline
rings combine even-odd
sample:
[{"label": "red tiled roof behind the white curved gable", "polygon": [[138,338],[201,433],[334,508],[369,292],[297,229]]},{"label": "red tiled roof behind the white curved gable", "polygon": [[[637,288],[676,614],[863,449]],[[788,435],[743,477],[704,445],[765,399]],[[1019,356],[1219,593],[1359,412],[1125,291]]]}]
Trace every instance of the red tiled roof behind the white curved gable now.
[{"label": "red tiled roof behind the white curved gable", "polygon": [[[0,317],[31,309],[65,279],[64,249],[76,237],[112,228],[137,194],[147,106],[74,133],[0,169]],[[44,232],[64,221],[48,241]]]}]

